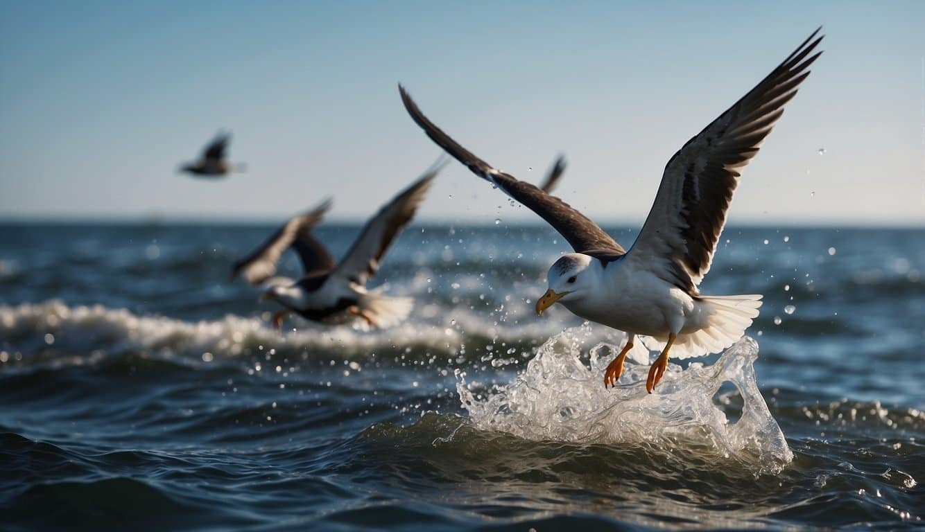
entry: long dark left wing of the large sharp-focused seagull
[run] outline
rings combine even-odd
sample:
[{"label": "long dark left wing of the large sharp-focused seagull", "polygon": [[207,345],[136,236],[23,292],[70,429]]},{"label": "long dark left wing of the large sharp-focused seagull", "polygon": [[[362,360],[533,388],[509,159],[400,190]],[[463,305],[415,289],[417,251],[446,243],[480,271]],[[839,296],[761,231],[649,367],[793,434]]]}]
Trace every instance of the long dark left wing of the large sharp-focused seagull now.
[{"label": "long dark left wing of the large sharp-focused seagull", "polygon": [[555,196],[550,196],[530,183],[518,180],[513,175],[493,168],[471,151],[460,146],[455,140],[450,139],[449,135],[435,126],[418,109],[417,104],[401,85],[399,85],[399,92],[401,92],[401,102],[404,103],[408,114],[418,126],[424,129],[427,137],[430,137],[457,161],[465,164],[475,175],[499,187],[508,196],[539,214],[561,236],[565,237],[575,251],[609,258],[625,253],[616,240],[598,227],[598,224],[591,222],[584,214],[570,207],[568,203]]}]

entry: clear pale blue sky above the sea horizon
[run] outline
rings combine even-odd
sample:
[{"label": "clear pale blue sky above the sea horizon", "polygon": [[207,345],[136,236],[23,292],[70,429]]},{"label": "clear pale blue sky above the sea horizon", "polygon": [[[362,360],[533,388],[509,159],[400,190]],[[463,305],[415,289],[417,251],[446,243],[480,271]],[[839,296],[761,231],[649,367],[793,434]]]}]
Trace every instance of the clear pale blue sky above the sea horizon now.
[{"label": "clear pale blue sky above the sea horizon", "polygon": [[[825,54],[746,168],[732,220],[925,223],[925,2],[0,9],[3,217],[272,220],[325,196],[334,218],[364,217],[438,155],[401,81],[489,163],[537,180],[564,152],[565,200],[641,221],[672,153],[821,24]],[[178,175],[222,127],[248,173]],[[421,211],[498,214],[537,220],[457,163]]]}]

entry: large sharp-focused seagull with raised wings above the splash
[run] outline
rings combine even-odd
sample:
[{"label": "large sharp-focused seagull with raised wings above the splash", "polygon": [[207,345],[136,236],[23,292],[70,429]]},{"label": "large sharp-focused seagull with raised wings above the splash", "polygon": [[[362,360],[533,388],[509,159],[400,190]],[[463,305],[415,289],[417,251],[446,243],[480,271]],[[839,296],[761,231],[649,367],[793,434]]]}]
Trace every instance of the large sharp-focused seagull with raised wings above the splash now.
[{"label": "large sharp-focused seagull with raised wings above the splash", "polygon": [[717,353],[733,345],[758,317],[760,295],[703,296],[698,285],[709,272],[740,171],[821,54],[812,54],[822,40],[817,37],[820,30],[672,156],[629,251],[564,201],[450,139],[401,85],[399,91],[405,109],[430,139],[536,212],[574,249],[549,268],[549,289],[536,302],[536,313],[561,303],[585,320],[627,333],[626,344],[604,372],[605,387],[616,384],[635,336],[643,336],[648,341],[644,345],[661,349],[648,371],[646,390],[652,393],[668,367],[670,351],[676,358]]}]

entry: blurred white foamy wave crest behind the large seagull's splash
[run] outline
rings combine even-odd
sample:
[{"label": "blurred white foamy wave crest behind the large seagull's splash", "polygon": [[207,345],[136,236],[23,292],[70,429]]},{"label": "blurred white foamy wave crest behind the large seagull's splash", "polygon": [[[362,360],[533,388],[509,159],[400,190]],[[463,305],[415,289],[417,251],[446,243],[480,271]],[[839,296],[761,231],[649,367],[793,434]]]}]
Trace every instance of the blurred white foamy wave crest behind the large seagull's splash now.
[{"label": "blurred white foamy wave crest behind the large seagull's splash", "polygon": [[[290,323],[297,328],[279,333],[269,326],[268,313],[184,321],[140,316],[127,308],[69,307],[51,300],[0,306],[0,361],[82,363],[119,354],[185,357],[194,363],[264,354],[302,359],[374,354],[379,359],[391,354],[466,359],[530,350],[561,332],[561,321],[525,320],[524,314],[513,308],[485,315],[475,309],[425,305],[417,308],[412,320],[382,331],[293,320]],[[604,339],[611,331],[599,328],[595,334]]]}]

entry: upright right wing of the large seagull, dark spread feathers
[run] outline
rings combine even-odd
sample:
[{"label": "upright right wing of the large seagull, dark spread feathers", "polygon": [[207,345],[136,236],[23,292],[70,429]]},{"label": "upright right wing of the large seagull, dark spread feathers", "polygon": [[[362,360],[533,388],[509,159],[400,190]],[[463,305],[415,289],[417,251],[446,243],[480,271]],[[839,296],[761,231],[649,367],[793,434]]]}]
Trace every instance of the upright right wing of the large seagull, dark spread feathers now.
[{"label": "upright right wing of the large seagull, dark spread feathers", "polygon": [[709,271],[739,171],[795,95],[822,37],[819,30],[774,68],[767,78],[690,139],[665,166],[652,210],[627,260],[642,260],[661,278],[697,294]]}]

